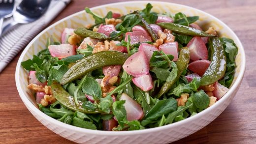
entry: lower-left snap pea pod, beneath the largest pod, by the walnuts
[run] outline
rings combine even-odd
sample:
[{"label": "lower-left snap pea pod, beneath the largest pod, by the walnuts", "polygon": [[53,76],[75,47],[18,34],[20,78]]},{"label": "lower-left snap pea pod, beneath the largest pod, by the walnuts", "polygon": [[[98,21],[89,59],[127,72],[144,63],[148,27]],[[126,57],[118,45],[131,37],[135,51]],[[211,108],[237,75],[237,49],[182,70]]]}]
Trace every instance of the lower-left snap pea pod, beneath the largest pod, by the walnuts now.
[{"label": "lower-left snap pea pod, beneath the largest pod, by the walnuts", "polygon": [[79,111],[86,114],[102,113],[99,110],[89,111],[82,107],[82,103],[75,104],[73,96],[71,96],[65,89],[57,82],[53,82],[51,85],[54,97],[65,107],[73,111]]}]

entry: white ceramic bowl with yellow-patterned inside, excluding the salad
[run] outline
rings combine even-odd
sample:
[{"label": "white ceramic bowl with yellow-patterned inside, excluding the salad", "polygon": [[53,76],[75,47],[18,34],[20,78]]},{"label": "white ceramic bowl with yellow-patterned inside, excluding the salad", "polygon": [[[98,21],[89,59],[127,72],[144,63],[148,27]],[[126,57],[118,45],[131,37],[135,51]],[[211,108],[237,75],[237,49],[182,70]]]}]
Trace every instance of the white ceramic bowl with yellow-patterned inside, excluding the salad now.
[{"label": "white ceramic bowl with yellow-patterned inside, excluding the salad", "polygon": [[[127,14],[132,10],[144,8],[147,3],[147,1],[119,2],[96,6],[91,9],[101,16],[105,15],[110,10],[113,12]],[[235,60],[237,66],[235,69],[232,86],[223,98],[208,109],[185,120],[157,128],[138,131],[109,132],[89,130],[65,124],[49,117],[48,115],[45,115],[38,109],[32,91],[27,88],[28,71],[24,70],[20,63],[24,60],[32,58],[33,54],[36,55],[39,51],[45,49],[47,37],[53,36],[60,39],[61,32],[65,27],[77,28],[85,26],[86,24],[93,24],[94,20],[92,16],[86,14],[83,10],[64,18],[43,30],[30,42],[19,58],[15,74],[16,86],[21,99],[32,115],[34,115],[34,117],[37,118],[43,125],[56,134],[70,141],[87,144],[170,143],[187,137],[188,135],[200,130],[213,121],[218,115],[220,115],[235,96],[244,76],[245,53],[240,40],[222,21],[201,10],[168,2],[150,1],[150,3],[154,6],[153,11],[159,13],[168,12],[174,14],[177,12],[183,12],[189,16],[199,16],[200,19],[197,24],[199,24],[202,28],[207,29],[209,26],[212,26],[218,30],[220,36],[229,37],[234,40],[239,48],[238,55]]]}]

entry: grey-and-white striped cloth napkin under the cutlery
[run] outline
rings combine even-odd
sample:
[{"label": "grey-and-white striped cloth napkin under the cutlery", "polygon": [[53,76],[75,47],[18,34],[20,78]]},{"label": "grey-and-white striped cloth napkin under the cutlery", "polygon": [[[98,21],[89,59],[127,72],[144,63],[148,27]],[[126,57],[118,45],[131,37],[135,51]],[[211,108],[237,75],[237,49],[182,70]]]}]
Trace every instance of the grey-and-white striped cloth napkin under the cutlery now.
[{"label": "grey-and-white striped cloth napkin under the cutlery", "polygon": [[[40,19],[30,24],[19,25],[0,37],[0,72],[70,1],[52,0],[47,12]],[[12,18],[8,19],[3,26],[11,21]]]}]

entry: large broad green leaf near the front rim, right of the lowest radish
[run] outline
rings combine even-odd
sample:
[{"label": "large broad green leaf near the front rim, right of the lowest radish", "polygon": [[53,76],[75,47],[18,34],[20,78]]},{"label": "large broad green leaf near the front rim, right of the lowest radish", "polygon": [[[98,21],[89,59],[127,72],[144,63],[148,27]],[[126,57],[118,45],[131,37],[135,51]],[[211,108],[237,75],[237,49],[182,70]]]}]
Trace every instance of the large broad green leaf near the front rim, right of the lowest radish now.
[{"label": "large broad green leaf near the front rim, right of the lowest radish", "polygon": [[158,119],[162,115],[172,113],[177,110],[177,101],[175,99],[165,99],[158,101],[154,107],[141,121],[143,126],[151,123],[153,120]]}]

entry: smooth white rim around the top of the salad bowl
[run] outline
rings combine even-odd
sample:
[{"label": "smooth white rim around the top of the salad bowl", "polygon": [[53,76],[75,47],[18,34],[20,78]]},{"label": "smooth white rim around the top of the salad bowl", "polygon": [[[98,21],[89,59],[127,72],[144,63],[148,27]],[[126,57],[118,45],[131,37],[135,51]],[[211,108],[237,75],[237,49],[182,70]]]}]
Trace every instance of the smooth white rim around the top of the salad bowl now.
[{"label": "smooth white rim around the top of the salad bowl", "polygon": [[[191,6],[187,6],[187,5],[183,5],[183,4],[177,4],[177,3],[172,3],[172,2],[164,2],[164,1],[125,1],[125,2],[115,2],[115,3],[109,3],[109,4],[104,4],[104,5],[99,5],[99,6],[95,6],[92,7],[90,9],[98,9],[101,7],[106,7],[106,6],[113,6],[113,5],[119,5],[119,4],[128,4],[128,3],[140,3],[140,4],[146,4],[146,3],[156,3],[156,2],[160,2],[160,3],[166,3],[166,4],[172,4],[175,6],[182,6],[182,7],[186,7],[188,9],[192,9],[195,11],[199,11],[201,13],[204,13],[204,15],[206,15],[207,17],[212,17],[213,19],[215,19],[218,23],[220,23],[221,25],[225,26],[229,31],[231,31],[231,34],[234,35],[235,39],[237,39],[237,45],[240,45],[239,50],[241,52],[241,70],[237,76],[236,81],[234,82],[233,86],[228,90],[228,92],[218,101],[216,102],[213,106],[205,109],[204,111],[193,115],[192,117],[188,117],[184,120],[172,123],[172,124],[168,124],[168,125],[164,125],[164,126],[160,126],[160,127],[155,127],[155,128],[149,128],[149,129],[143,129],[143,130],[135,130],[135,131],[102,131],[102,130],[91,130],[91,129],[86,129],[86,128],[80,128],[80,127],[76,127],[73,125],[69,125],[66,123],[63,123],[57,119],[54,119],[48,115],[45,115],[43,112],[41,112],[37,107],[35,107],[32,102],[26,97],[26,94],[24,93],[24,91],[21,88],[21,84],[19,82],[19,73],[20,73],[20,68],[21,68],[21,62],[23,57],[25,56],[26,52],[29,50],[29,48],[32,46],[32,44],[38,39],[38,37],[40,37],[44,32],[46,32],[47,30],[51,29],[52,27],[58,25],[59,23],[66,21],[67,19],[74,17],[76,15],[79,15],[81,13],[84,13],[84,10],[76,12],[72,15],[69,15],[67,17],[64,17],[63,19],[55,22],[54,24],[52,24],[51,26],[49,26],[48,28],[44,29],[43,31],[41,31],[36,37],[34,37],[32,39],[32,41],[26,46],[26,48],[24,49],[24,51],[22,52],[17,66],[16,66],[16,72],[15,72],[15,81],[16,81],[16,87],[17,90],[19,92],[19,95],[23,101],[23,103],[25,104],[25,106],[30,110],[33,111],[33,113],[35,113],[36,115],[40,115],[41,117],[44,117],[45,119],[47,118],[47,120],[49,122],[51,122],[52,124],[55,124],[57,126],[60,127],[64,127],[65,129],[69,129],[69,130],[73,130],[73,131],[77,131],[77,132],[81,132],[81,133],[90,133],[90,134],[95,134],[95,135],[105,135],[105,136],[124,136],[124,135],[137,135],[137,134],[146,134],[146,133],[151,133],[151,132],[158,132],[158,131],[162,131],[165,129],[171,129],[177,125],[183,125],[185,123],[189,123],[192,122],[193,120],[199,118],[200,116],[203,116],[207,113],[209,113],[210,111],[212,111],[212,109],[215,109],[217,107],[219,107],[220,105],[222,105],[224,103],[225,100],[228,99],[229,96],[231,96],[231,93],[233,91],[236,91],[236,89],[240,86],[241,81],[243,79],[244,76],[244,72],[245,72],[245,65],[246,65],[246,59],[245,59],[245,52],[244,52],[244,47],[240,41],[240,39],[237,37],[237,35],[233,32],[232,29],[230,29],[226,24],[224,24],[224,22],[222,22],[221,20],[219,20],[218,18],[216,18],[213,15],[210,15],[202,10],[199,10],[197,8],[193,8]],[[154,5],[154,4],[153,4]],[[32,112],[31,112],[32,113]],[[33,114],[32,113],[32,114]],[[48,118],[49,117],[49,118]],[[37,117],[36,117],[37,118]],[[39,118],[37,118],[39,119]]]}]

